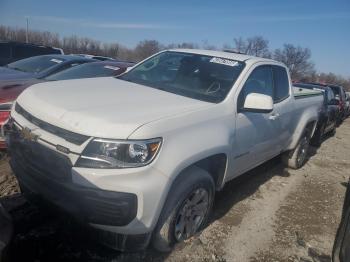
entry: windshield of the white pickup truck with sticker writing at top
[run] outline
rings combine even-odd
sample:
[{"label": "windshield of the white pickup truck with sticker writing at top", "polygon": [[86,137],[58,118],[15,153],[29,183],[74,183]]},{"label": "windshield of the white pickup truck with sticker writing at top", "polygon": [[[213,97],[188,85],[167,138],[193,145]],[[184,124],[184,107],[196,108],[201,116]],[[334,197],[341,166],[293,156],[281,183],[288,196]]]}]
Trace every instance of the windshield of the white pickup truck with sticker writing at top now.
[{"label": "windshield of the white pickup truck with sticker writing at top", "polygon": [[166,51],[141,63],[119,79],[174,94],[219,103],[244,68],[231,59]]}]

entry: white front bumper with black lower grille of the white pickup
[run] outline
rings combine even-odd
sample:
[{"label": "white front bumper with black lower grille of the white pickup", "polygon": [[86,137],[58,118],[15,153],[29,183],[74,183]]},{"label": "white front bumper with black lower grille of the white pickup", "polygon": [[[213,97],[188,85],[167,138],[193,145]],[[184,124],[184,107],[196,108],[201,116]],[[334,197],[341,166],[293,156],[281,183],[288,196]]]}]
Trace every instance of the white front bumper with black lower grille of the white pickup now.
[{"label": "white front bumper with black lower grille of the white pickup", "polygon": [[79,155],[64,154],[55,147],[61,144],[69,148],[69,143],[30,124],[40,138],[28,141],[19,135],[26,121],[11,123],[6,132],[10,164],[29,198],[54,204],[89,223],[109,246],[117,244],[120,250],[128,250],[128,243],[133,249],[135,245],[144,247],[166,197],[167,176],[150,166],[105,170],[74,167]]}]

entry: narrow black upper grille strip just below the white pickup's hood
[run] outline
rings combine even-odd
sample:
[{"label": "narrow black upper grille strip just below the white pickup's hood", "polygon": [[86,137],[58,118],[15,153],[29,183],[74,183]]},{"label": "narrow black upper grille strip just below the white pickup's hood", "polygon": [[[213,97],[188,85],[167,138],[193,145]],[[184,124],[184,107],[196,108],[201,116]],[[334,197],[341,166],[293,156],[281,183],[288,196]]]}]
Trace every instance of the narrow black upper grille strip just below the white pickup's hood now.
[{"label": "narrow black upper grille strip just below the white pickup's hood", "polygon": [[16,105],[15,105],[15,110],[18,114],[23,116],[25,119],[27,119],[32,124],[40,127],[41,129],[43,129],[51,134],[59,136],[59,137],[63,138],[64,140],[71,142],[73,144],[81,145],[86,140],[89,139],[88,136],[84,136],[81,134],[77,134],[77,133],[68,131],[66,129],[51,125],[47,122],[44,122],[44,121],[36,118],[35,116],[33,116],[32,114],[27,112],[25,109],[23,109],[23,107],[21,107],[18,103],[16,103]]}]

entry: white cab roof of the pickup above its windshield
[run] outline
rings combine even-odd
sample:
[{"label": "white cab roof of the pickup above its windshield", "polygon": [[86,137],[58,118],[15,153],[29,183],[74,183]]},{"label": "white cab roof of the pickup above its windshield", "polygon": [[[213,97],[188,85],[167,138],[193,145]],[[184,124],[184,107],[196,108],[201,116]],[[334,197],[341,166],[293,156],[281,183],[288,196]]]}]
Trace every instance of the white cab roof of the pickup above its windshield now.
[{"label": "white cab roof of the pickup above its windshield", "polygon": [[262,57],[256,57],[256,56],[250,56],[250,55],[244,55],[244,54],[226,52],[226,51],[204,50],[204,49],[182,49],[182,48],[169,49],[167,51],[216,56],[216,57],[221,57],[221,58],[233,59],[233,60],[241,61],[241,62],[246,62],[249,60],[249,62],[251,62],[251,63],[265,61],[265,62],[274,62],[274,63],[282,64],[278,61],[268,59],[268,58],[262,58]]}]

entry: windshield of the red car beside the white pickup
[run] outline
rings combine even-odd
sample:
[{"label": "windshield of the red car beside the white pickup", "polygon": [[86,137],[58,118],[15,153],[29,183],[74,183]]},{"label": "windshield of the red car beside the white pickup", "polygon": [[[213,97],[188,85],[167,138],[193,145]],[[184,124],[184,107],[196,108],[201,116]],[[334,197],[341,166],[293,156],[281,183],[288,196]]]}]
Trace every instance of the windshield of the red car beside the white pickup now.
[{"label": "windshield of the red car beside the white pickup", "polygon": [[115,76],[125,71],[126,68],[120,68],[114,65],[100,63],[86,63],[70,69],[58,72],[45,78],[48,81],[67,80],[77,78]]}]

